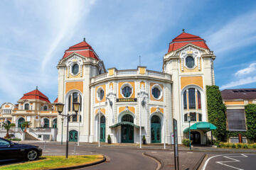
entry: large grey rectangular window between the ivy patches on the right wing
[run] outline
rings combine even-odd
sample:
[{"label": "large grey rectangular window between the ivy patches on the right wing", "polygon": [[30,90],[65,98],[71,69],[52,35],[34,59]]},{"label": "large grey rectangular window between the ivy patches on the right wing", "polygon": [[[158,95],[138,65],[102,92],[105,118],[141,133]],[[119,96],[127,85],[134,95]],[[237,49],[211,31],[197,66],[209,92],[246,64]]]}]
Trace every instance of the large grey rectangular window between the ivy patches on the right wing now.
[{"label": "large grey rectangular window between the ivy patches on the right wing", "polygon": [[228,130],[246,131],[244,109],[227,109],[227,119]]}]

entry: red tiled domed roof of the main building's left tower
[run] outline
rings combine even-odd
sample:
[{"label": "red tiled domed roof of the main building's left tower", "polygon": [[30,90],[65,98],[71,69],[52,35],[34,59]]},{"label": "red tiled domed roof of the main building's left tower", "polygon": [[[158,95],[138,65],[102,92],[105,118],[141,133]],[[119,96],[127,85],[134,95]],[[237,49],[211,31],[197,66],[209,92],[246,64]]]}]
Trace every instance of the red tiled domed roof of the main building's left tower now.
[{"label": "red tiled domed roof of the main building's left tower", "polygon": [[100,60],[99,57],[97,57],[95,51],[92,49],[92,46],[90,46],[85,41],[85,38],[82,42],[69,47],[68,50],[65,50],[65,54],[63,55],[63,59],[65,57],[68,57],[68,56],[72,55],[73,53],[77,53],[78,55],[82,55],[83,57],[92,57],[96,60]]}]

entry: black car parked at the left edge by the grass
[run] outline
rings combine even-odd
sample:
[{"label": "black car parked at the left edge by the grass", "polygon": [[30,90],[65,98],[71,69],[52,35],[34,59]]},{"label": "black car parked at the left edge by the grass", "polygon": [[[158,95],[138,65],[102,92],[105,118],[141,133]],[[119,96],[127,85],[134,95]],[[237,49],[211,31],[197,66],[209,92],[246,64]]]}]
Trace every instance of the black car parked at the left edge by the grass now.
[{"label": "black car parked at the left edge by the grass", "polygon": [[33,161],[42,155],[41,147],[11,142],[0,137],[0,162],[14,159]]}]

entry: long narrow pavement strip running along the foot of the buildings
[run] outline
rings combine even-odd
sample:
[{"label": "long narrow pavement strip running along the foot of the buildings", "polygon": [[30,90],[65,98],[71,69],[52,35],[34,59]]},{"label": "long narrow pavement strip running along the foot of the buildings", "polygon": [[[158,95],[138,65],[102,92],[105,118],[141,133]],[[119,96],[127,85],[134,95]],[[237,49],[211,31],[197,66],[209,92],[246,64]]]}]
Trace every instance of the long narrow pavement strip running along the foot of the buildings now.
[{"label": "long narrow pavement strip running along the foot of the buildings", "polygon": [[[33,144],[44,144],[46,145],[60,145],[60,142],[45,142],[45,141],[21,141],[20,143],[33,143]],[[69,142],[70,146],[78,145],[76,142]],[[63,145],[65,145],[65,142],[63,142]],[[80,146],[85,147],[97,147],[98,143],[86,143],[86,142],[80,142]],[[115,144],[107,144],[107,143],[101,143],[101,147],[120,147],[120,148],[131,148],[131,149],[139,149],[139,144],[124,144],[124,143],[115,143]],[[142,149],[164,149],[163,144],[147,144],[142,145]],[[172,145],[166,145],[166,149],[173,150],[174,147]],[[178,150],[180,151],[189,151],[189,147],[184,147],[183,145],[178,146]],[[255,153],[256,149],[225,149],[225,148],[216,148],[216,147],[192,147],[192,151],[198,151],[198,152],[233,152],[233,153]]]}]

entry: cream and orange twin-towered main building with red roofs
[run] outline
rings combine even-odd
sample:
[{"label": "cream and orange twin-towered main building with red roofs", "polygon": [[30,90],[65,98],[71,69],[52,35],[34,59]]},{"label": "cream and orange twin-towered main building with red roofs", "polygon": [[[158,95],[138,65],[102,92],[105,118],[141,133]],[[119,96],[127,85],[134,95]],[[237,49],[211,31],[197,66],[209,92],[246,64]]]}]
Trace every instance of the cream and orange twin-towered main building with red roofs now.
[{"label": "cream and orange twin-towered main building with red roofs", "polygon": [[[181,33],[169,44],[163,57],[163,71],[105,69],[92,47],[83,40],[65,50],[58,63],[58,102],[64,114],[75,113],[73,102],[81,103],[77,116],[69,121],[70,141],[171,143],[173,120],[178,121],[178,142],[188,135],[191,124],[208,122],[206,86],[215,84],[215,55],[202,38]],[[61,140],[61,116],[58,136]],[[140,128],[142,132],[140,135]],[[199,144],[206,143],[207,130],[193,130]],[[63,139],[65,139],[63,135]]]}]

